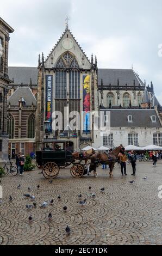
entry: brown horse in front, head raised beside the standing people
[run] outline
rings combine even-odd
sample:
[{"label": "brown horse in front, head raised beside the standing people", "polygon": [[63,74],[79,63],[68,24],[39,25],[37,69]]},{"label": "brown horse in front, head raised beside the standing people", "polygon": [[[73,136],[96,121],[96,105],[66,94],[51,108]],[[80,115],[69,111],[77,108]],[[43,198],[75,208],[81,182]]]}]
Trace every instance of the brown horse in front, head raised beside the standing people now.
[{"label": "brown horse in front, head raised beside the standing people", "polygon": [[96,167],[97,162],[103,164],[109,164],[110,168],[110,178],[113,176],[113,168],[115,161],[117,161],[117,156],[119,155],[120,151],[123,149],[123,146],[120,145],[116,149],[114,149],[111,153],[96,153],[91,156],[91,164],[90,164],[90,172],[94,170],[94,175],[97,176]]}]

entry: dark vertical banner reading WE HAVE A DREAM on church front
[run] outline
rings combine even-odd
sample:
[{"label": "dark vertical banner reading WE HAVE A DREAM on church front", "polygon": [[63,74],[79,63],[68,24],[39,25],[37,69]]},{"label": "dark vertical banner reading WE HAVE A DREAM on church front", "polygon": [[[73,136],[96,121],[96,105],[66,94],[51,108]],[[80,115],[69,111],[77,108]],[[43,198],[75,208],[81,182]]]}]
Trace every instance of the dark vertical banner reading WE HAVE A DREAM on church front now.
[{"label": "dark vertical banner reading WE HAVE A DREAM on church front", "polygon": [[52,88],[53,75],[46,75],[46,119],[51,122],[49,133],[52,133]]}]

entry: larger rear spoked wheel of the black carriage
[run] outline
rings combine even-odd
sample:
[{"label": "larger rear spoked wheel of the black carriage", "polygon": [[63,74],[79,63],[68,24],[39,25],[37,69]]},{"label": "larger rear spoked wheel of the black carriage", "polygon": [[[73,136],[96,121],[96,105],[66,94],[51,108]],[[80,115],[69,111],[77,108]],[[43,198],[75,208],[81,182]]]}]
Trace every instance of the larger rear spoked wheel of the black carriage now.
[{"label": "larger rear spoked wheel of the black carriage", "polygon": [[54,179],[59,174],[59,167],[54,162],[47,162],[43,165],[42,173],[46,179]]}]

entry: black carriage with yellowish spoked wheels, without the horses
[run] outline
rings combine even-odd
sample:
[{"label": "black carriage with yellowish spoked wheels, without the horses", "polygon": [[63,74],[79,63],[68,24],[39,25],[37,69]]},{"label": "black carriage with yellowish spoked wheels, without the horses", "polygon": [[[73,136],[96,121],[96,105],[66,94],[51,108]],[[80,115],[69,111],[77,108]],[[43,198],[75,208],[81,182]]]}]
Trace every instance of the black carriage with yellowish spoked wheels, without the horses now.
[{"label": "black carriage with yellowish spoked wheels, without the horses", "polygon": [[[68,141],[43,141],[41,150],[36,151],[36,166],[42,169],[47,179],[54,179],[60,168],[73,163],[72,151],[68,148]],[[87,173],[83,164],[73,164],[70,173],[74,178],[80,178]]]}]

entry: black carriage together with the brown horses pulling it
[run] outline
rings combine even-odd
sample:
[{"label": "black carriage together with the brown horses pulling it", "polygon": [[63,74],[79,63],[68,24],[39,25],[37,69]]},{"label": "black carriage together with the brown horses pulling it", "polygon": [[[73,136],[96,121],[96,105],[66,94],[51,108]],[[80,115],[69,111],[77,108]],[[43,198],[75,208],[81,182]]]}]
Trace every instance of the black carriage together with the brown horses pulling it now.
[{"label": "black carriage together with the brown horses pulling it", "polygon": [[[97,175],[96,168],[99,164],[109,164],[110,177],[113,176],[114,164],[117,161],[117,156],[122,150],[122,145],[113,150],[113,152],[95,153],[94,150],[88,150],[83,156],[80,153],[72,153],[67,147],[68,141],[43,141],[42,148],[36,151],[36,166],[42,169],[42,174],[47,179],[54,179],[59,174],[60,168],[66,166],[70,168],[70,173],[74,178],[80,178],[88,173],[87,160],[90,159],[90,172],[94,170],[94,175]],[[76,162],[76,160],[79,162]],[[81,164],[82,161],[85,164]]]}]

